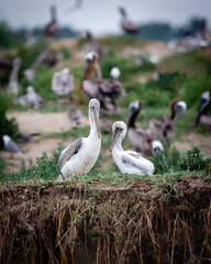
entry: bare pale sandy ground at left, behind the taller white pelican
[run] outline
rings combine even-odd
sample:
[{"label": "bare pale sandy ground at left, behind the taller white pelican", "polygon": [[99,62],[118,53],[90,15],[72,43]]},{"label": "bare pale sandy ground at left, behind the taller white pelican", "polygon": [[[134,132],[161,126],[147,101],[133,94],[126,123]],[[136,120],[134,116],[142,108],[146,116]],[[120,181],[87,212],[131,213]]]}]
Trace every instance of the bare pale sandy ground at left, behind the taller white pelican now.
[{"label": "bare pale sandy ground at left, behind the taller white pelican", "polygon": [[[7,167],[8,172],[16,172],[21,167],[21,160],[36,161],[36,157],[41,157],[43,152],[52,154],[55,148],[57,148],[58,143],[67,146],[74,139],[64,141],[62,138],[49,139],[44,135],[53,132],[68,131],[76,127],[71,122],[66,112],[56,113],[41,113],[41,112],[11,112],[8,113],[8,118],[15,118],[20,131],[22,133],[41,133],[41,136],[31,140],[27,143],[18,143],[23,154],[11,155],[5,151],[1,151],[0,155],[10,163]],[[81,127],[88,125],[89,121],[87,117],[81,117]]]}]

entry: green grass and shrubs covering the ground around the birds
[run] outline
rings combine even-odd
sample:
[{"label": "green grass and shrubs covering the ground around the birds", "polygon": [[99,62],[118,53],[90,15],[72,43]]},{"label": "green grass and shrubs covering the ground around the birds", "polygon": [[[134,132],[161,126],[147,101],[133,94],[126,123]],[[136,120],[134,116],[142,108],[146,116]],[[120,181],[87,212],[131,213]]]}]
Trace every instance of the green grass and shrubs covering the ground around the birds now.
[{"label": "green grass and shrubs covering the ground around the birds", "polygon": [[[165,25],[164,25],[165,28]],[[206,130],[202,125],[199,128],[193,128],[198,106],[200,101],[201,92],[211,89],[211,78],[210,78],[210,54],[211,48],[201,51],[192,51],[186,54],[174,54],[163,59],[158,64],[152,64],[148,59],[147,53],[142,52],[147,42],[140,38],[138,36],[112,36],[112,37],[101,37],[98,40],[100,44],[107,47],[107,56],[101,62],[102,76],[104,78],[110,77],[110,70],[112,67],[119,67],[121,70],[120,81],[122,82],[127,96],[120,98],[118,105],[121,107],[121,112],[111,114],[107,118],[112,120],[123,120],[127,121],[127,108],[132,100],[141,100],[143,103],[143,109],[137,117],[137,125],[142,128],[148,128],[148,122],[153,118],[162,118],[164,116],[170,116],[170,101],[174,98],[181,98],[188,105],[188,109],[182,113],[181,118],[178,120],[175,128],[175,139],[180,140],[181,135],[187,132],[195,131],[196,133],[204,133]],[[85,43],[84,38],[78,40],[78,47],[81,47]],[[141,51],[140,53],[130,53],[127,47]],[[130,50],[129,48],[129,50]],[[74,65],[74,52],[67,47],[60,46],[56,50],[63,52],[64,61],[58,63],[55,67],[48,68],[46,66],[38,66],[36,75],[32,84],[29,84],[23,78],[23,70],[29,68],[34,59],[44,51],[52,51],[51,44],[48,44],[44,38],[41,38],[36,44],[31,47],[18,46],[12,53],[8,55],[13,57],[21,57],[22,66],[20,72],[20,86],[21,94],[25,94],[25,89],[29,85],[32,85],[36,92],[43,98],[45,108],[42,112],[59,112],[67,111],[69,106],[62,106],[58,103],[58,99],[65,99],[65,97],[59,97],[55,95],[52,90],[52,77],[56,70],[62,69],[64,66],[68,67],[68,64]],[[135,55],[134,55],[135,54]],[[82,114],[87,116],[88,109],[88,98],[80,88],[85,63],[81,65],[71,66],[70,73],[75,78],[75,92],[70,96],[71,102],[76,102],[77,109],[79,109]],[[153,74],[158,74],[158,79],[153,79]],[[146,81],[141,81],[143,76],[147,76]],[[18,125],[14,120],[8,120],[5,118],[5,112],[10,109],[18,111],[29,111],[30,108],[21,106],[11,106],[11,100],[13,97],[0,97],[0,135],[7,133],[13,140],[19,135]],[[138,176],[122,175],[114,164],[111,165],[112,157],[107,153],[108,146],[110,144],[111,134],[107,133],[103,129],[102,123],[102,154],[95,168],[90,172],[88,177],[85,179],[82,176],[75,177],[71,180],[88,180],[99,179],[101,183],[123,183],[124,180],[131,180],[132,178],[140,178]],[[86,136],[89,133],[89,127],[74,128],[69,131],[55,132],[45,134],[44,138],[63,138],[74,140],[79,136]],[[1,142],[2,144],[2,142]],[[127,138],[123,142],[124,148],[131,148],[131,143]],[[0,162],[1,164],[1,180],[2,182],[21,182],[21,180],[48,180],[55,179],[59,174],[57,167],[57,160],[60,148],[57,150],[52,157],[48,157],[45,153],[41,158],[37,158],[35,164],[30,167],[24,162],[22,163],[22,168],[19,173],[5,175],[7,163]],[[192,153],[190,151],[190,153]],[[200,153],[195,155],[199,160],[199,167],[203,168],[201,174],[208,174],[208,161],[201,156]],[[189,155],[189,154],[187,154]],[[147,180],[162,180],[167,178],[175,178],[180,176],[188,176],[195,174],[197,170],[192,169],[197,165],[192,165],[195,162],[188,160],[187,155],[181,155],[181,153],[175,147],[165,146],[165,155],[157,153],[155,157],[151,157],[155,164],[155,174],[153,177],[143,177]],[[206,161],[206,162],[204,162]],[[109,168],[101,167],[101,165],[110,164]],[[204,165],[204,164],[207,165]],[[207,168],[206,168],[207,166]],[[197,173],[196,173],[197,174]]]}]

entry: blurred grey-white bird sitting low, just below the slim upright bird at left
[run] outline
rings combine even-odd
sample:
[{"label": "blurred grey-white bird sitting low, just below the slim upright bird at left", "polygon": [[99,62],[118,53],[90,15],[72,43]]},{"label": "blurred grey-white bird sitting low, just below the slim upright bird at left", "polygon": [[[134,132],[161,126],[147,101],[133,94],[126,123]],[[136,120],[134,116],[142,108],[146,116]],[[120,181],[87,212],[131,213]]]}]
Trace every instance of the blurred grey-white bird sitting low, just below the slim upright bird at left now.
[{"label": "blurred grey-white bird sitting low, just below the slim upright bird at left", "polygon": [[26,95],[14,99],[13,103],[21,105],[23,107],[31,107],[34,109],[44,108],[43,99],[35,92],[34,87],[32,86],[29,86],[26,88]]}]

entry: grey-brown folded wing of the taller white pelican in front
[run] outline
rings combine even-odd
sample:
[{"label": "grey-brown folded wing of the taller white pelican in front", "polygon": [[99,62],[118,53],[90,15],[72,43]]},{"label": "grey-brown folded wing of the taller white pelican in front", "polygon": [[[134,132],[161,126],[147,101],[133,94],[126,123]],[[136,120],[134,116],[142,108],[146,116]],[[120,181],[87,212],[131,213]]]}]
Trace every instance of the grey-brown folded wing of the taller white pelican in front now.
[{"label": "grey-brown folded wing of the taller white pelican in front", "polygon": [[68,145],[62,153],[58,160],[58,166],[62,169],[67,161],[69,161],[74,155],[76,155],[82,146],[82,139],[74,141]]}]

